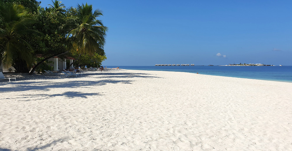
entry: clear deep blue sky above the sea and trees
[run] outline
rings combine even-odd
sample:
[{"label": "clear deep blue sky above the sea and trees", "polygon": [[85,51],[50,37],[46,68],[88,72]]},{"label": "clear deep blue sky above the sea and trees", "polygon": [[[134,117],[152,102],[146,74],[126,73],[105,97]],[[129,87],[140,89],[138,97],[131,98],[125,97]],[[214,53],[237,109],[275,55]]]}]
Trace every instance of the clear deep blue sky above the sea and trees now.
[{"label": "clear deep blue sky above the sea and trees", "polygon": [[292,1],[62,1],[86,2],[109,28],[103,66],[292,65]]}]

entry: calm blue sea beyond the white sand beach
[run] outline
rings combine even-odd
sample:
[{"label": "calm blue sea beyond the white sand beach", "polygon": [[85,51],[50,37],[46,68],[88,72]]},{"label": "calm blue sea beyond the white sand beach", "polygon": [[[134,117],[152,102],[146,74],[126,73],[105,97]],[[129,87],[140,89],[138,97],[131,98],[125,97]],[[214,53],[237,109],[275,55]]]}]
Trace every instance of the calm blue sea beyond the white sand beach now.
[{"label": "calm blue sea beyond the white sand beach", "polygon": [[[116,68],[117,66],[107,66]],[[292,82],[292,66],[119,66],[121,69],[199,73],[259,80]]]}]

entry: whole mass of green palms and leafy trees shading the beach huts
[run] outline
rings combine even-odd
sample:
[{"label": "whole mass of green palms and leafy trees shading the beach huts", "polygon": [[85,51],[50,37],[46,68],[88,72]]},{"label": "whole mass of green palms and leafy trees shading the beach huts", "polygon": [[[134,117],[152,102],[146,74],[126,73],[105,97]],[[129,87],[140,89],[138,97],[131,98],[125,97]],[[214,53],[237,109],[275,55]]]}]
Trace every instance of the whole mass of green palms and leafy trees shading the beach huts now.
[{"label": "whole mass of green palms and leafy trees shading the beach huts", "polygon": [[0,1],[0,62],[5,67],[12,65],[32,75],[49,58],[65,54],[77,56],[76,60],[82,55],[82,63],[90,64],[106,59],[103,48],[108,29],[98,20],[101,10],[87,3],[65,10],[58,0],[52,0],[49,8],[39,4],[36,0]]}]

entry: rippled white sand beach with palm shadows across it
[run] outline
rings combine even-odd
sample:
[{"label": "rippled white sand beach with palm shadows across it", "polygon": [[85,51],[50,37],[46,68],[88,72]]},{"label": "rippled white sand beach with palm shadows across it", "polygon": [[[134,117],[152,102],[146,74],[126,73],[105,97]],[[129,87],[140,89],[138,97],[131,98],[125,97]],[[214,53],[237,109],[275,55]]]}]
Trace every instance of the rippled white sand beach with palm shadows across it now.
[{"label": "rippled white sand beach with palm shadows across it", "polygon": [[292,150],[292,83],[170,71],[0,81],[0,150]]}]

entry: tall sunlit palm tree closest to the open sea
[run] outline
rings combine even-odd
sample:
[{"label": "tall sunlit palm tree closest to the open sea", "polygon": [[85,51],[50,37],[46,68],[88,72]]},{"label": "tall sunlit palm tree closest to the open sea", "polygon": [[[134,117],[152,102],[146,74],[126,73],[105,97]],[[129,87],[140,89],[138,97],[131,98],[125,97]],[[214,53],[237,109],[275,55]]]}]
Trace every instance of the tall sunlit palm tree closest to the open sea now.
[{"label": "tall sunlit palm tree closest to the open sea", "polygon": [[97,9],[93,12],[92,5],[82,3],[77,4],[77,8],[70,8],[70,13],[71,15],[67,17],[68,24],[64,28],[69,31],[67,36],[69,48],[77,50],[79,54],[76,60],[82,54],[93,55],[97,52],[99,55],[105,55],[103,46],[107,27],[97,19],[102,15],[102,11]]}]

